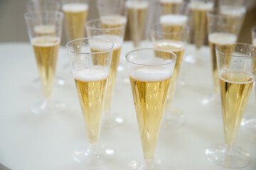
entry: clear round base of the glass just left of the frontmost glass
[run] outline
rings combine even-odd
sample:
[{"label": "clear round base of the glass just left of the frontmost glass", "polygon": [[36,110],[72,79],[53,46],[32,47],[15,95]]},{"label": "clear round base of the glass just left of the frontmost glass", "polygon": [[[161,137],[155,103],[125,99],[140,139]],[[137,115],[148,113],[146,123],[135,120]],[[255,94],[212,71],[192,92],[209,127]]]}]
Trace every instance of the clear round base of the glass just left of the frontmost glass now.
[{"label": "clear round base of the glass just left of the frontmost glass", "polygon": [[75,149],[73,153],[75,161],[92,166],[106,164],[110,162],[113,156],[114,150],[105,149],[104,147],[92,149],[92,147],[81,146]]}]

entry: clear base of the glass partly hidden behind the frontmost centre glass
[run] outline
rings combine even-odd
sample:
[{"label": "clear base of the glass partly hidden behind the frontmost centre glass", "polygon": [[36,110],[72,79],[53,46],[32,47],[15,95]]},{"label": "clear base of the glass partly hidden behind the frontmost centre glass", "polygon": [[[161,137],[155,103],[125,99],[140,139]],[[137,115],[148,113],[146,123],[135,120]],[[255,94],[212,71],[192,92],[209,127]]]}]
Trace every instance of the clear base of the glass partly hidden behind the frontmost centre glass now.
[{"label": "clear base of the glass partly hidden behind the frontmost centre glass", "polygon": [[165,111],[162,127],[165,129],[178,128],[185,123],[185,117],[181,110],[177,108],[171,108],[169,111]]}]

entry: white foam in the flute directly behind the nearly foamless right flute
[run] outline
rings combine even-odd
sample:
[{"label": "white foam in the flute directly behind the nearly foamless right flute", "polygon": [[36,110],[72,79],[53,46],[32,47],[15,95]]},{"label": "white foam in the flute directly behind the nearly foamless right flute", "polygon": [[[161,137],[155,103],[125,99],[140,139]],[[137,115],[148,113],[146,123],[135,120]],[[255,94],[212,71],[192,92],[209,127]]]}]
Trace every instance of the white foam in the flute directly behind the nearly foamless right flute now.
[{"label": "white foam in the flute directly behind the nearly foamless right flute", "polygon": [[216,44],[233,44],[237,41],[237,36],[231,33],[211,33],[209,41]]}]

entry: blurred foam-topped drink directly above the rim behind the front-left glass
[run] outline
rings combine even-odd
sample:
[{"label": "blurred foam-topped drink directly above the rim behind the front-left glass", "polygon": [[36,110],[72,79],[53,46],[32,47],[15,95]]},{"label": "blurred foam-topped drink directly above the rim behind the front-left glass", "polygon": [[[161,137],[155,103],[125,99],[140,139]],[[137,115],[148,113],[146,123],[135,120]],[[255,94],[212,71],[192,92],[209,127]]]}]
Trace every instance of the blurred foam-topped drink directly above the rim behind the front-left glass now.
[{"label": "blurred foam-topped drink directly above the rim behind the front-left glass", "polygon": [[101,18],[102,28],[117,28],[107,30],[107,34],[111,35],[123,35],[127,18],[119,15],[102,16]]}]

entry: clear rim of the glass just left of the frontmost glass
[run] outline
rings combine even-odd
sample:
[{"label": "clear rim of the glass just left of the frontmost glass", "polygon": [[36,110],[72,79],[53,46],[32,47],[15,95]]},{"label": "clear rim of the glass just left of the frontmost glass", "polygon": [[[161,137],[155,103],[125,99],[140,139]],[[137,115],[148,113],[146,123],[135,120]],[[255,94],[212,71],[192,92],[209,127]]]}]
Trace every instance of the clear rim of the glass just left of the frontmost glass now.
[{"label": "clear rim of the glass just left of the frontmost glass", "polygon": [[[100,52],[77,52],[77,51],[71,49],[70,47],[68,47],[68,45],[70,45],[71,43],[73,43],[73,42],[75,42],[75,41],[79,41],[79,40],[101,40],[101,41],[105,41],[105,42],[110,42],[111,47],[108,48],[107,50],[100,51]],[[103,53],[103,52],[109,52],[109,51],[113,50],[113,48],[114,48],[114,43],[111,42],[110,40],[102,39],[102,38],[78,38],[78,39],[70,40],[69,42],[67,42],[67,44],[65,45],[65,47],[67,48],[67,50],[68,50],[69,52],[73,52],[73,53],[76,53],[76,54],[96,55],[96,54],[101,54],[101,53]]]}]

